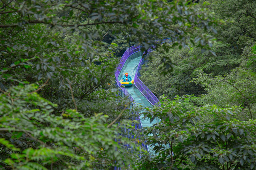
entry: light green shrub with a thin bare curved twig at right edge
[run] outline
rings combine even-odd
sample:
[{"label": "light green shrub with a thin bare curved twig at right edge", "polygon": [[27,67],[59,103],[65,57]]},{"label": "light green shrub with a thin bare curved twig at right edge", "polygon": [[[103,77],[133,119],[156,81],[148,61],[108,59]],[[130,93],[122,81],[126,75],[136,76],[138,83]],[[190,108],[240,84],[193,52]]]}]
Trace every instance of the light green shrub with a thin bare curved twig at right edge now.
[{"label": "light green shrub with a thin bare curved twig at right edge", "polygon": [[[235,69],[228,75],[209,77],[206,73],[199,72],[195,83],[205,87],[207,94],[192,99],[199,105],[216,104],[242,105],[244,112],[239,115],[240,119],[255,118],[256,102],[256,74],[249,70]],[[220,97],[221,96],[221,97]]]}]

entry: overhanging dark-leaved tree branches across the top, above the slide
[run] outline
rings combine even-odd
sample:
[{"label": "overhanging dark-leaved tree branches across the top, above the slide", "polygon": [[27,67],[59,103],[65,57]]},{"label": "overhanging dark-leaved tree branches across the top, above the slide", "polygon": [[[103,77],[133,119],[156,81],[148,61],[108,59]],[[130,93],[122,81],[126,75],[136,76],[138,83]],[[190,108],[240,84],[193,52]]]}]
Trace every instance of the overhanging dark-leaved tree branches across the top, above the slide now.
[{"label": "overhanging dark-leaved tree branches across the top, above the slide", "polygon": [[[106,3],[100,0],[96,3],[90,1],[56,3],[44,0],[29,2],[15,0],[10,2],[10,5],[4,5],[1,12],[3,22],[0,27],[6,28],[1,31],[3,37],[1,52],[6,56],[5,58],[12,56],[12,61],[6,61],[8,67],[20,60],[19,55],[29,59],[38,56],[40,63],[37,70],[40,70],[40,73],[35,76],[41,79],[59,74],[55,73],[55,70],[60,68],[52,64],[56,56],[58,56],[57,64],[60,64],[60,61],[68,62],[66,67],[76,62],[76,59],[92,60],[95,56],[102,56],[99,53],[102,51],[100,46],[105,45],[102,39],[108,36],[106,33],[110,31],[113,38],[116,36],[113,35],[115,33],[132,35],[132,41],[142,44],[145,49],[152,44],[159,46],[155,40],[162,37],[171,37],[172,41],[184,47],[187,46],[185,41],[187,38],[192,41],[200,40],[199,46],[207,46],[211,43],[211,37],[193,35],[189,28],[195,24],[203,29],[212,30],[217,21],[205,10],[191,6],[186,1],[131,3],[128,0],[122,2],[113,0]],[[175,28],[169,28],[177,23]],[[9,40],[8,37],[12,37],[10,42],[5,41]],[[63,41],[63,37],[69,41]],[[70,44],[71,40],[73,40],[72,44]],[[34,68],[36,65],[34,63]]]}]

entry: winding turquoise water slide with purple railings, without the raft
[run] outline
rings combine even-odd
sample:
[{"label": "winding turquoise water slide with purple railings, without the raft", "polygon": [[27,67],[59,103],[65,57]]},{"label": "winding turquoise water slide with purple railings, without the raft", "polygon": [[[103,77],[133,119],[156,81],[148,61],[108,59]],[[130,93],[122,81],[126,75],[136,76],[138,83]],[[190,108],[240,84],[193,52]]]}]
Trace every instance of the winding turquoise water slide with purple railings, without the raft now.
[{"label": "winding turquoise water slide with purple railings, without the raft", "polygon": [[[142,83],[138,76],[140,76],[141,65],[144,64],[144,59],[142,58],[142,51],[140,51],[141,46],[132,46],[124,52],[120,63],[115,72],[116,83],[119,87],[119,95],[128,96],[131,101],[134,101],[136,105],[142,105],[145,107],[152,107],[157,104],[159,100],[157,97]],[[134,85],[131,87],[121,87],[119,80],[122,79],[124,73],[129,73],[132,79],[134,79]],[[141,127],[149,127],[155,124],[159,120],[154,120],[150,122],[149,119],[140,117]],[[152,148],[145,146],[150,154],[154,154]]]}]

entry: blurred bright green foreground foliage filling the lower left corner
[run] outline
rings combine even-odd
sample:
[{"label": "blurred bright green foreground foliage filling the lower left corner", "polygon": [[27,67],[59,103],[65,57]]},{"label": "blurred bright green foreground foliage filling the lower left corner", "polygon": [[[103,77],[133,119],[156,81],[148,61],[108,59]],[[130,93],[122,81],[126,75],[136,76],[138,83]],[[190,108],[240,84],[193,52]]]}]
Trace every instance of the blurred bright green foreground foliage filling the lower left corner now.
[{"label": "blurred bright green foreground foliage filling the lower left corner", "polygon": [[[133,167],[136,159],[133,153],[139,147],[118,135],[123,133],[122,124],[107,127],[107,115],[85,118],[76,110],[56,116],[52,114],[56,105],[35,90],[32,85],[14,86],[0,95],[0,130],[5,132],[0,134],[0,143],[9,154],[1,154],[2,167],[38,170]],[[129,144],[133,150],[123,148],[120,143]]]}]

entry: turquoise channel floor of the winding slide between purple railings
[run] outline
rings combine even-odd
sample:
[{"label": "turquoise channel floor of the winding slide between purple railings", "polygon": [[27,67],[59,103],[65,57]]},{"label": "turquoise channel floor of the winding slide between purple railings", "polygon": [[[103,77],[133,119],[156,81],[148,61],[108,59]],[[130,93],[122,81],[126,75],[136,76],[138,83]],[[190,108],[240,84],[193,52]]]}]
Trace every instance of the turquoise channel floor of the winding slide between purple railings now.
[{"label": "turquoise channel floor of the winding slide between purple railings", "polygon": [[[138,56],[134,59],[127,60],[126,64],[122,68],[120,75],[119,75],[119,80],[121,80],[122,76],[124,76],[124,73],[128,73],[132,79],[134,79],[135,73],[137,71],[138,64],[140,62],[142,56]],[[142,105],[144,107],[152,107],[150,102],[143,96],[143,94],[137,89],[135,85],[132,85],[131,87],[126,87],[126,90],[129,92],[129,94],[132,96],[134,99],[135,103],[137,105]],[[153,124],[157,123],[157,120],[155,119],[153,122],[150,123],[149,119],[144,119],[142,116],[140,116],[140,121],[142,124],[142,127],[149,127],[152,126]],[[152,153],[152,148],[149,148],[150,153]]]}]

